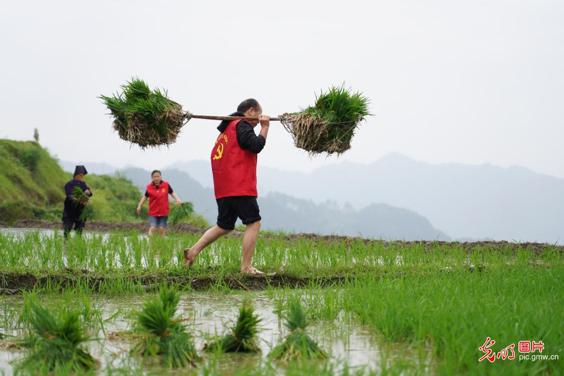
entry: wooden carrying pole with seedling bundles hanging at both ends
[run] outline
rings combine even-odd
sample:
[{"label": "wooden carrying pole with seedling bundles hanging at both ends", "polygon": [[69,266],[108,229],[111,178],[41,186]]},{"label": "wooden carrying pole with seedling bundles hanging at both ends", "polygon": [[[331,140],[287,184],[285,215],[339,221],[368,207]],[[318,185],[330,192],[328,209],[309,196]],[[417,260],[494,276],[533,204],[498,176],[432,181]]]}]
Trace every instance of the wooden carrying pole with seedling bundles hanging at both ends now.
[{"label": "wooden carrying pole with seedling bundles hanging at both ends", "polygon": [[[190,119],[257,120],[255,117],[194,115],[169,99],[166,91],[151,90],[139,78],[131,78],[121,86],[122,92],[112,97],[101,95],[113,116],[113,128],[120,138],[142,148],[170,145]],[[351,139],[368,110],[369,99],[352,93],[344,86],[332,87],[316,97],[314,106],[299,112],[271,117],[281,121],[292,134],[294,145],[316,155],[338,155],[349,150]]]}]

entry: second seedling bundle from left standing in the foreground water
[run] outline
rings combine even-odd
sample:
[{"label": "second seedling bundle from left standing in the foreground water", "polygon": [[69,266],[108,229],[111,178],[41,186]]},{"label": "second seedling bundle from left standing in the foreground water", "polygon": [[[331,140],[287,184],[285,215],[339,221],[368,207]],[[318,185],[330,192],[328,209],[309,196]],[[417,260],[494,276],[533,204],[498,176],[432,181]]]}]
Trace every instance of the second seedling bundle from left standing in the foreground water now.
[{"label": "second seedling bundle from left standing in the foreground water", "polygon": [[188,319],[175,316],[179,299],[178,292],[161,288],[158,298],[145,303],[135,330],[140,342],[133,348],[134,352],[161,356],[169,367],[196,365],[199,357],[183,324]]}]

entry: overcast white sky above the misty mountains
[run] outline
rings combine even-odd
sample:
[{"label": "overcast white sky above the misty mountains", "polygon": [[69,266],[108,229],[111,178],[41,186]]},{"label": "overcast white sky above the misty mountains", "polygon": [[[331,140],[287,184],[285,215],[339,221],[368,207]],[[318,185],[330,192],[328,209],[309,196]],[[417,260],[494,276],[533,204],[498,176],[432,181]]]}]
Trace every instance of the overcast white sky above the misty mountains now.
[{"label": "overcast white sky above the misty mountains", "polygon": [[[523,165],[564,177],[563,1],[19,1],[0,5],[0,137],[64,160],[162,168],[208,159],[217,123],[170,148],[118,138],[100,100],[132,75],[186,110],[226,115],[254,97],[278,115],[329,85],[371,117],[341,159],[400,152],[431,163]],[[259,163],[311,170],[279,123]]]}]

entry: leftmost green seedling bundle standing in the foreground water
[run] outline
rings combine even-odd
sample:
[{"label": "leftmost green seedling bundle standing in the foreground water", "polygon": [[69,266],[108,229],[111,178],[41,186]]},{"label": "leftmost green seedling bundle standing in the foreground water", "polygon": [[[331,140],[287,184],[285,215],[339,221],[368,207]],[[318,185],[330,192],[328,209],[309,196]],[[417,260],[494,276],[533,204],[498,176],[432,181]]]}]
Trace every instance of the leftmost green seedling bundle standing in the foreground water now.
[{"label": "leftmost green seedling bundle standing in the foreground water", "polygon": [[82,373],[99,365],[81,346],[90,338],[85,334],[78,311],[63,311],[57,317],[35,299],[26,300],[27,319],[33,333],[25,340],[30,353],[21,363],[24,369]]}]

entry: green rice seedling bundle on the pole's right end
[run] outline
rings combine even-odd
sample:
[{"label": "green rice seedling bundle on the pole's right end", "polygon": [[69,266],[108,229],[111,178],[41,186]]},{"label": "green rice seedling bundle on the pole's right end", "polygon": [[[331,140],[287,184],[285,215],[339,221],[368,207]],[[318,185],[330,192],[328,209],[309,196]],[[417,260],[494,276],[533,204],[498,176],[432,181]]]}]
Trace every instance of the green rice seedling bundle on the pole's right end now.
[{"label": "green rice seedling bundle on the pole's right end", "polygon": [[351,139],[368,110],[370,100],[333,86],[316,97],[315,105],[296,113],[280,115],[280,121],[294,139],[294,145],[310,155],[326,152],[338,155],[351,147]]}]

